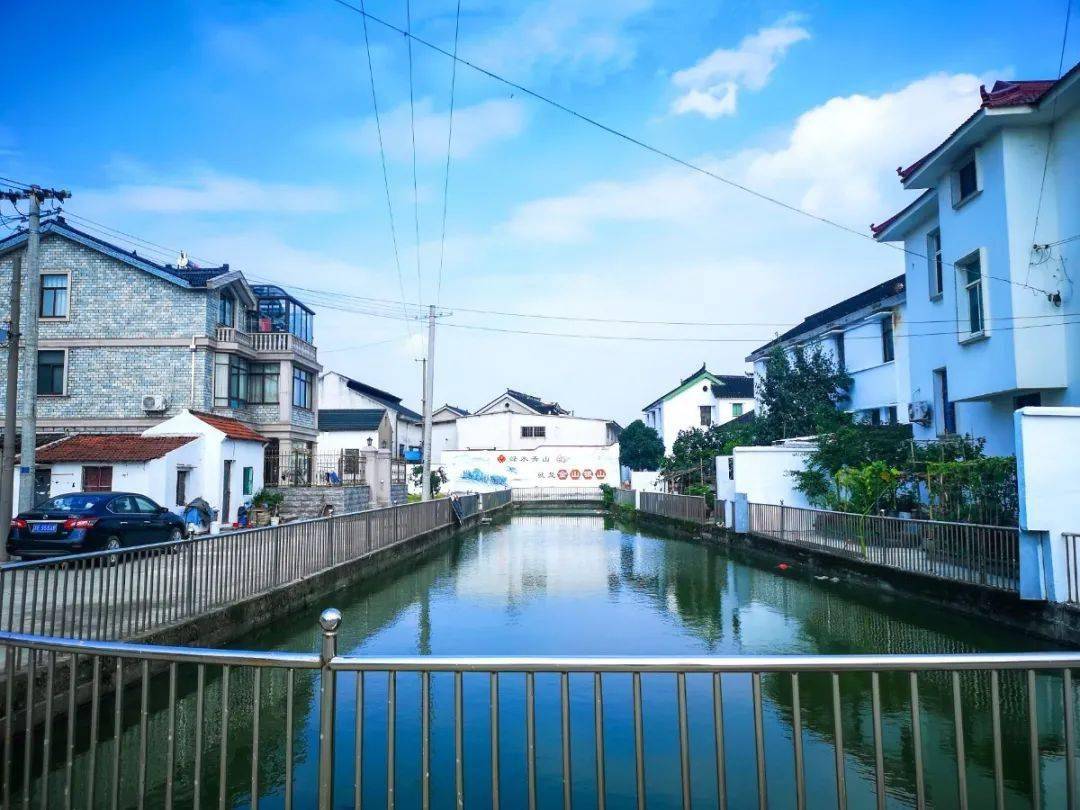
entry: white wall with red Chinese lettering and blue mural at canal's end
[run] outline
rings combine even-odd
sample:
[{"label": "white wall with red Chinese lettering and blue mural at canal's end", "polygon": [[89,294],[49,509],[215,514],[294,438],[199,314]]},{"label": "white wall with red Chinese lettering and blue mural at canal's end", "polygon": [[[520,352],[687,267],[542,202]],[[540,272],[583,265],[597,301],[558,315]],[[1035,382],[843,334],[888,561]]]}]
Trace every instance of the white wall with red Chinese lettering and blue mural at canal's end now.
[{"label": "white wall with red Chinese lettering and blue mural at canal's end", "polygon": [[446,491],[486,491],[505,487],[619,486],[619,445],[548,446],[514,450],[445,450]]}]

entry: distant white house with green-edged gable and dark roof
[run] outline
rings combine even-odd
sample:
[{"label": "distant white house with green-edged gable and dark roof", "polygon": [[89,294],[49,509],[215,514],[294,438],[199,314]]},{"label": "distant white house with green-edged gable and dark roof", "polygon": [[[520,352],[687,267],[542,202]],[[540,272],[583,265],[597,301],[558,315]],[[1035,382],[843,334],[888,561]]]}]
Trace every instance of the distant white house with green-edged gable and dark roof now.
[{"label": "distant white house with green-edged gable and dark roof", "polygon": [[644,408],[645,423],[657,431],[671,453],[678,434],[724,424],[754,408],[754,380],[745,374],[713,374],[704,364]]}]

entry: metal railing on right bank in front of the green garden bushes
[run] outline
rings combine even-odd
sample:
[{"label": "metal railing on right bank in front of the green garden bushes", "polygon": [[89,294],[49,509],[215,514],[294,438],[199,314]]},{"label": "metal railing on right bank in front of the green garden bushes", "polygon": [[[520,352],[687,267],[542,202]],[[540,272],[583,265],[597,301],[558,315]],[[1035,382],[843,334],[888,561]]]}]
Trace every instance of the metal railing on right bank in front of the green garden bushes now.
[{"label": "metal railing on right bank in front of the green garden bushes", "polygon": [[750,531],[926,577],[1020,589],[1015,528],[751,503]]}]

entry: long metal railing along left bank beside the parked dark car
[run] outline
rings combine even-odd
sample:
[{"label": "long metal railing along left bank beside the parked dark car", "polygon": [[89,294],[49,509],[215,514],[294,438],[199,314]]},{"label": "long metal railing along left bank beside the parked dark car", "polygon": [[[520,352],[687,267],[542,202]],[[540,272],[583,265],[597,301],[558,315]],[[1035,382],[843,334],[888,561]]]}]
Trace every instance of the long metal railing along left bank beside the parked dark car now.
[{"label": "long metal railing along left bank beside the parked dark car", "polygon": [[449,500],[0,566],[0,630],[137,638],[451,524]]}]

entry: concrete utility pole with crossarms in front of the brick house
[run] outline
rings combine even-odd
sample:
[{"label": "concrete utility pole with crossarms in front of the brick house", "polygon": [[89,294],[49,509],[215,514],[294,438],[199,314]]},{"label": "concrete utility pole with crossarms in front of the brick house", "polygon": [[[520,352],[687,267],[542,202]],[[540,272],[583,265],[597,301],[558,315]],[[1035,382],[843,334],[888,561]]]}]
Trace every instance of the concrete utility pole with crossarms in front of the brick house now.
[{"label": "concrete utility pole with crossarms in front of the brick house", "polygon": [[[26,239],[26,328],[21,329],[23,346],[23,420],[22,454],[18,463],[18,511],[33,505],[33,483],[38,433],[38,316],[41,309],[41,264],[39,247],[41,242],[41,203],[45,200],[63,202],[71,197],[70,191],[30,186],[18,191],[2,194],[14,203],[16,200],[30,201],[30,221]],[[16,376],[17,379],[17,376]],[[10,382],[9,382],[10,384]],[[6,419],[4,422],[6,428]],[[3,516],[8,519],[8,515]]]}]

